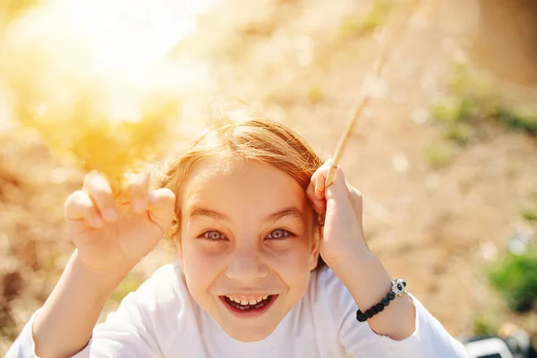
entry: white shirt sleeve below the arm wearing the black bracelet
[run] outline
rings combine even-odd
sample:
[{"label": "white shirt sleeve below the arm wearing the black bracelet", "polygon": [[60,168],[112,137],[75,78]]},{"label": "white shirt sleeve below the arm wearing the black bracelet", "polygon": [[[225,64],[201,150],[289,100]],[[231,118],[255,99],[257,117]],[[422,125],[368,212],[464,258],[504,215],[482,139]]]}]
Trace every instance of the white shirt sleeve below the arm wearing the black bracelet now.
[{"label": "white shirt sleeve below the arm wearing the black bracelet", "polygon": [[[366,322],[356,320],[358,307],[354,298],[337,276],[327,269],[323,281],[326,293],[331,297],[333,319],[337,337],[345,353],[362,358],[465,358],[465,347],[451,337],[429,311],[413,295],[411,298],[416,310],[415,330],[403,340],[375,333]],[[337,304],[334,304],[337,303]]]}]

